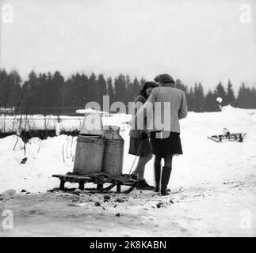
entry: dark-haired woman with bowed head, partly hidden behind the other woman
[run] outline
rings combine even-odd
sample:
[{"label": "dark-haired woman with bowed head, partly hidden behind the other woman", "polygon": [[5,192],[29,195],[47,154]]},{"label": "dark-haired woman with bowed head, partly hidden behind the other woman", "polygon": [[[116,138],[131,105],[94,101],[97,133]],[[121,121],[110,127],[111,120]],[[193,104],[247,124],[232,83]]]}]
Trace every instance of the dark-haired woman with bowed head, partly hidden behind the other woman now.
[{"label": "dark-haired woman with bowed head, partly hidden behind the other woman", "polygon": [[[151,94],[151,90],[158,85],[154,81],[147,81],[143,85],[143,89],[141,89],[139,96],[136,97],[135,105],[136,111],[139,110],[139,107],[142,106],[147,98]],[[136,115],[135,111],[135,115]],[[146,122],[146,119],[144,119]],[[130,147],[128,153],[139,156],[139,161],[136,169],[132,172],[133,179],[139,179],[139,183],[136,187],[138,190],[154,190],[155,187],[150,186],[146,180],[144,179],[144,170],[145,165],[152,158],[152,149],[151,143],[148,139],[148,132],[146,128],[146,123],[144,124],[143,130],[138,130],[136,125],[134,129],[130,130]]]}]

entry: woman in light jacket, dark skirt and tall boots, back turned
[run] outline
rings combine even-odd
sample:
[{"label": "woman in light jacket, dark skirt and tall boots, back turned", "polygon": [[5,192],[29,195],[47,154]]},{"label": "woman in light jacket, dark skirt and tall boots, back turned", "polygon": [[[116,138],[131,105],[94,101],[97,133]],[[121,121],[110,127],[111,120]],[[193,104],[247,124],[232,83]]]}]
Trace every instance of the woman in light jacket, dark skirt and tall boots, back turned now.
[{"label": "woman in light jacket, dark skirt and tall boots, back turned", "polygon": [[[136,118],[146,115],[145,111],[147,115],[148,112],[154,112],[151,113],[153,128],[150,131],[152,153],[155,154],[155,191],[160,190],[161,179],[161,194],[166,195],[173,156],[183,153],[179,120],[186,117],[188,109],[185,93],[175,88],[175,81],[169,74],[160,74],[155,77],[155,81],[160,87],[152,90],[147,102],[139,108]],[[162,158],[165,164],[161,177]]]}]

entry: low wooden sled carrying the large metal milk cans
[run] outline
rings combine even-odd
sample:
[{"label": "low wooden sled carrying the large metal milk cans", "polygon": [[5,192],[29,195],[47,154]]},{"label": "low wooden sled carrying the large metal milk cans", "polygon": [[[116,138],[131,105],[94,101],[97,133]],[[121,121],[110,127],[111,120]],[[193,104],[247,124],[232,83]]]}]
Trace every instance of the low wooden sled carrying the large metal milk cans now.
[{"label": "low wooden sled carrying the large metal milk cans", "polygon": [[[65,190],[65,183],[78,183],[79,189],[81,191],[90,191],[91,193],[94,192],[105,192],[110,191],[113,187],[117,187],[117,193],[124,193],[128,194],[129,192],[133,191],[138,181],[132,179],[130,175],[124,174],[120,176],[109,176],[109,174],[101,172],[95,173],[90,175],[79,175],[72,172],[67,172],[66,175],[52,175],[53,177],[57,177],[60,179],[59,189]],[[97,188],[85,188],[85,183],[94,183],[97,184]],[[109,183],[110,185],[104,187],[105,183]],[[129,188],[126,191],[121,191],[121,186],[128,186]]]}]

